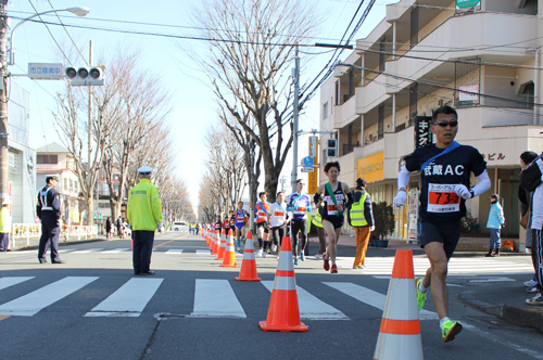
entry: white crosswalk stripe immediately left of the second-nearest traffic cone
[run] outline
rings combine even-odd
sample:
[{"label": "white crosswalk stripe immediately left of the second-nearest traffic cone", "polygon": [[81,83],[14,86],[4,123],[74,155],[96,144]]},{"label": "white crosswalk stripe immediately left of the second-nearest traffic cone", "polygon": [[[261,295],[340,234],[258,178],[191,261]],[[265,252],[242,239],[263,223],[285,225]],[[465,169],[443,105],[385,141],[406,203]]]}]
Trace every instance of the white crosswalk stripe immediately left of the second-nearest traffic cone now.
[{"label": "white crosswalk stripe immediately left of the second-nearest traffic cone", "polygon": [[247,318],[228,280],[197,279],[192,317]]}]

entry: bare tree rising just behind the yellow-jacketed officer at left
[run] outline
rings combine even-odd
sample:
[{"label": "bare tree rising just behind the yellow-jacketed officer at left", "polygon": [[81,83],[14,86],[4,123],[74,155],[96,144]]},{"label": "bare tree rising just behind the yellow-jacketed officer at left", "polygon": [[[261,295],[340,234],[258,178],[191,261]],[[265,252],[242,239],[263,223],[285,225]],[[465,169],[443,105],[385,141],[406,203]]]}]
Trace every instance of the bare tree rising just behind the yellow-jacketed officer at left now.
[{"label": "bare tree rising just behind the yellow-jacketed officer at left", "polygon": [[118,105],[123,108],[117,128],[106,139],[103,160],[110,189],[112,214],[121,214],[123,191],[127,181],[131,155],[149,132],[164,121],[169,113],[169,97],[156,77],[139,72],[139,54],[122,51],[109,68],[108,82],[119,83]]}]

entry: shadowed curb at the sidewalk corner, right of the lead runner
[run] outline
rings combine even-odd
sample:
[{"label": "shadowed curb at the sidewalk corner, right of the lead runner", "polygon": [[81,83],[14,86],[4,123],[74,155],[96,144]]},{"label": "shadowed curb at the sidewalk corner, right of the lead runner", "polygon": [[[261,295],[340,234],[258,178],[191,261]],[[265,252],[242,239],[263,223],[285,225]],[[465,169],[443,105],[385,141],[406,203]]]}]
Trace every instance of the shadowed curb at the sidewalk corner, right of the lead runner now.
[{"label": "shadowed curb at the sidewalk corner, right of the lead runner", "polygon": [[543,311],[541,308],[526,308],[510,305],[492,305],[479,299],[473,292],[464,292],[458,298],[466,305],[489,314],[502,318],[515,325],[532,327],[543,333]]}]

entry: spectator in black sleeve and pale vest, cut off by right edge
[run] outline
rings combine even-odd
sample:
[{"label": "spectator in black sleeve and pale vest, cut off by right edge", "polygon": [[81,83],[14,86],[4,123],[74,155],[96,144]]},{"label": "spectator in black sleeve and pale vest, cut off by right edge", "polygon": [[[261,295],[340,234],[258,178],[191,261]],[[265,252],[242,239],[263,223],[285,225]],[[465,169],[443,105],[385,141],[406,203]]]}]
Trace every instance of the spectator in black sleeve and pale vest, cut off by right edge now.
[{"label": "spectator in black sleeve and pale vest, cut off by right edge", "polygon": [[526,300],[528,305],[543,306],[543,154],[539,155],[530,165],[520,171],[519,187],[533,191],[532,196],[532,226],[535,236],[532,239],[532,250],[535,249],[535,275],[538,278],[538,293]]}]

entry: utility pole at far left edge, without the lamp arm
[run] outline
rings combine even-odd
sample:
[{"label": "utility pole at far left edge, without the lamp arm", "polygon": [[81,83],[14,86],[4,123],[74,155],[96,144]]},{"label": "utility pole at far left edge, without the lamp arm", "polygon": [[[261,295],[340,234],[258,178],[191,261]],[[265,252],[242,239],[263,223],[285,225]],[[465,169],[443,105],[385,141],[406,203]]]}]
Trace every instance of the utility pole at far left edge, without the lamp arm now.
[{"label": "utility pole at far left edge, without the lamp arm", "polygon": [[0,0],[0,197],[9,196],[9,166],[8,166],[8,0]]}]

